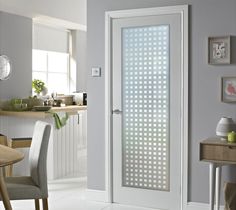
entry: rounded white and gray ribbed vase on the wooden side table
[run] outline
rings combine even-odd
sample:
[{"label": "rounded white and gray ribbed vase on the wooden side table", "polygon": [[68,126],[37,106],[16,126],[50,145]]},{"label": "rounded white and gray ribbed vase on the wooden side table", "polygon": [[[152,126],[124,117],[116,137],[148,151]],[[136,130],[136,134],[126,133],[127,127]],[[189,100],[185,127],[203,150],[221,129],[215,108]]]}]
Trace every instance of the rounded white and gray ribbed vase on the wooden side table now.
[{"label": "rounded white and gray ribbed vase on the wooden side table", "polygon": [[216,135],[221,137],[221,140],[227,140],[228,133],[236,131],[236,124],[230,117],[222,117],[216,126]]}]

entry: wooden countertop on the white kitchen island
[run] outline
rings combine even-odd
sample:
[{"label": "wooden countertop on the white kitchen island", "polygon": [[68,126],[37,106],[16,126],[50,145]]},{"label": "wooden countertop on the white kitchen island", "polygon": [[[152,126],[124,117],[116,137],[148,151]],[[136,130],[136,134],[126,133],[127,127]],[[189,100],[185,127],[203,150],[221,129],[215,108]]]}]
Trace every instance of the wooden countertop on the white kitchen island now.
[{"label": "wooden countertop on the white kitchen island", "polygon": [[[87,110],[87,106],[65,106],[65,107],[52,107],[50,111],[53,112],[67,112],[69,115],[77,114],[80,110]],[[47,118],[52,115],[43,111],[3,111],[0,110],[0,116],[12,117],[26,117],[26,118]]]}]

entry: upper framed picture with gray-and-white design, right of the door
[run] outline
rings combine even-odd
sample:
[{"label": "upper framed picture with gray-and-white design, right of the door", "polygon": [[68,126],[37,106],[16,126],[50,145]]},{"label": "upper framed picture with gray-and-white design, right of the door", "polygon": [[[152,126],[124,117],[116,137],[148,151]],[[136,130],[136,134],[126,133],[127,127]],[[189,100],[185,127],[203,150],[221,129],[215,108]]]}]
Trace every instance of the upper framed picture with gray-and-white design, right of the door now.
[{"label": "upper framed picture with gray-and-white design, right of the door", "polygon": [[209,64],[230,64],[230,36],[208,38],[208,63]]}]

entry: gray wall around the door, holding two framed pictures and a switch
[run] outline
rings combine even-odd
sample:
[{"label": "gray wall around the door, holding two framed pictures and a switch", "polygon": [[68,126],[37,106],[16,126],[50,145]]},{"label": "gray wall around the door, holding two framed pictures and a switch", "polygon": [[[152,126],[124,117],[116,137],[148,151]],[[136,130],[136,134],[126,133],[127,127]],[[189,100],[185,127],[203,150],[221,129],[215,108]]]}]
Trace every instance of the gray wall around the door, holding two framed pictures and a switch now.
[{"label": "gray wall around the door, holding two framed pictures and a switch", "polygon": [[[236,105],[220,102],[221,76],[236,76],[236,66],[207,64],[207,37],[236,36],[235,0],[88,0],[88,188],[105,189],[104,13],[111,10],[189,4],[189,201],[208,202],[208,164],[199,162],[199,141],[215,135],[221,116],[236,120]],[[102,77],[91,77],[101,66]],[[226,168],[227,174],[233,173]],[[235,174],[235,172],[233,173]]]}]

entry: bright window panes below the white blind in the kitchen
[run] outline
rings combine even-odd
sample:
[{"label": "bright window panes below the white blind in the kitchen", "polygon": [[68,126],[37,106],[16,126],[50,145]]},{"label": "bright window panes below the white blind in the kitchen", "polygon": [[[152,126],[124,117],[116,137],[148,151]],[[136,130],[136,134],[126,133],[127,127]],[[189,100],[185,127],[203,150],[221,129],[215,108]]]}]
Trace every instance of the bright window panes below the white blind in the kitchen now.
[{"label": "bright window panes below the white blind in the kitchen", "polygon": [[48,93],[69,93],[69,54],[33,50],[33,79],[45,82]]}]

